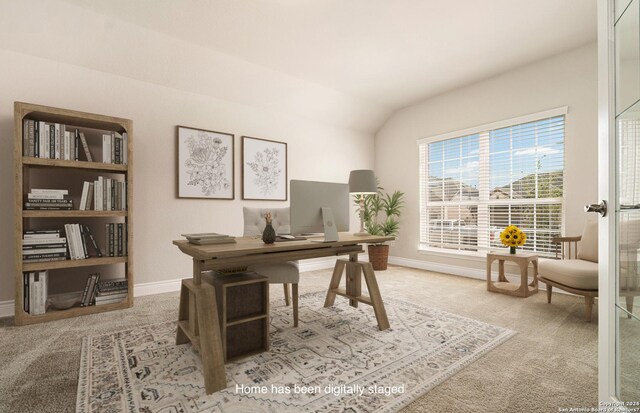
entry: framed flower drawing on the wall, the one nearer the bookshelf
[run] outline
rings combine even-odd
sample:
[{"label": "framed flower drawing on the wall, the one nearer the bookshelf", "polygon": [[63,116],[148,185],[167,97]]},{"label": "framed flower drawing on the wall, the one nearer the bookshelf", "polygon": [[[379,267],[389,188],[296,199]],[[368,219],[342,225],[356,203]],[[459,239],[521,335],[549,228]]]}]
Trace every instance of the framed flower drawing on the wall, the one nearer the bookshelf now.
[{"label": "framed flower drawing on the wall, the one nearer the bookshelf", "polygon": [[229,133],[178,126],[178,197],[234,199]]}]

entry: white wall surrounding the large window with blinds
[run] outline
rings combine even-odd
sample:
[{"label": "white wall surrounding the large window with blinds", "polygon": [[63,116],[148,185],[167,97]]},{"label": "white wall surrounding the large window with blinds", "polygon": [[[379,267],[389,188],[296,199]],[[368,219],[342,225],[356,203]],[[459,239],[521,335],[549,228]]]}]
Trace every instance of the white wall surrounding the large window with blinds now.
[{"label": "white wall surrounding the large window with blinds", "polygon": [[484,259],[452,259],[450,254],[418,252],[416,140],[560,106],[569,107],[565,129],[565,233],[580,234],[588,217],[582,206],[597,201],[595,43],[428,99],[387,120],[376,134],[376,173],[387,190],[404,191],[407,202],[391,255],[482,269]]}]

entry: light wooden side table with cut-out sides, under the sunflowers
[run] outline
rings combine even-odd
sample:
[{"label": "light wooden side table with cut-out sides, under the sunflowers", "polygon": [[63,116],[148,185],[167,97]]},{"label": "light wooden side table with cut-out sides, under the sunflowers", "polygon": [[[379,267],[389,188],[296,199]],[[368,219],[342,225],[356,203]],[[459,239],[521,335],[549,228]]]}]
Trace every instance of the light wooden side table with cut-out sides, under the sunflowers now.
[{"label": "light wooden side table with cut-out sides, under the sunflowers", "polygon": [[[498,260],[498,281],[491,280],[491,264]],[[504,263],[511,261],[520,267],[520,285],[510,283],[504,276]],[[533,281],[528,283],[529,263],[533,266]],[[538,256],[528,252],[509,254],[508,252],[492,251],[487,253],[487,291],[529,297],[538,292]]]}]

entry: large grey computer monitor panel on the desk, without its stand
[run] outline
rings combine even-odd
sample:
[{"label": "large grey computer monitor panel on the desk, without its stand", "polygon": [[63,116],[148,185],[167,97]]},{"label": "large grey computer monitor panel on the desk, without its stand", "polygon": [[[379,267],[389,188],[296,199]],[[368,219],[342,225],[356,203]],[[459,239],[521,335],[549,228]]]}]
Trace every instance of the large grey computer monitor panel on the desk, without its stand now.
[{"label": "large grey computer monitor panel on the desk, without its stand", "polygon": [[292,179],[291,233],[323,233],[322,208],[331,208],[338,231],[349,231],[349,185]]}]

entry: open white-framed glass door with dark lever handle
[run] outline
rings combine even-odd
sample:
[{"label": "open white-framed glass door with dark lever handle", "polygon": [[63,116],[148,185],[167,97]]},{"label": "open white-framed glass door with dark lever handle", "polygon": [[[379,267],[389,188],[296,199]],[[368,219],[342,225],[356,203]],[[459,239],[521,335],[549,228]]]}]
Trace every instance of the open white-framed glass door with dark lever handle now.
[{"label": "open white-framed glass door with dark lever handle", "polygon": [[[598,1],[598,383],[601,402],[640,401],[640,0]],[[637,297],[637,298],[636,298]]]}]

